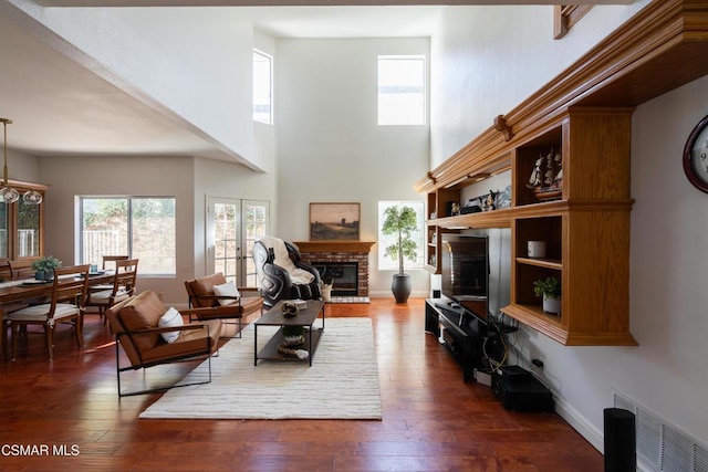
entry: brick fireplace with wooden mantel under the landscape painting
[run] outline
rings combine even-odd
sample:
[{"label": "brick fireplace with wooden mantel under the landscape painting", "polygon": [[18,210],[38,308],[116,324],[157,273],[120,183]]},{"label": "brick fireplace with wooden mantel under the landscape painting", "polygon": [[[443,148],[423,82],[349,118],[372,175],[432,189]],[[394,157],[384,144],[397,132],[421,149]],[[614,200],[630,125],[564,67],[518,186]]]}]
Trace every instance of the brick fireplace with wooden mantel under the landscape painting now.
[{"label": "brick fireplace with wooden mantel under the landscape painting", "polygon": [[368,253],[374,241],[294,241],[294,244],[303,262],[317,268],[321,274],[326,270],[330,275],[337,275],[333,295],[368,296]]}]

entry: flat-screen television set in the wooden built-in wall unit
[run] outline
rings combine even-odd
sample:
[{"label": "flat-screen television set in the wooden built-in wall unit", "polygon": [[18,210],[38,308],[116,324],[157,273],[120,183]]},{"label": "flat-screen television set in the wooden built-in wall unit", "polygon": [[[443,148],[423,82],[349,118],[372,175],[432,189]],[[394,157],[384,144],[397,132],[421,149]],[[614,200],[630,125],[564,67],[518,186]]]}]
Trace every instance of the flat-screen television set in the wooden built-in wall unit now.
[{"label": "flat-screen television set in the wooden built-in wall unit", "polygon": [[479,321],[489,314],[489,238],[442,234],[441,293]]}]

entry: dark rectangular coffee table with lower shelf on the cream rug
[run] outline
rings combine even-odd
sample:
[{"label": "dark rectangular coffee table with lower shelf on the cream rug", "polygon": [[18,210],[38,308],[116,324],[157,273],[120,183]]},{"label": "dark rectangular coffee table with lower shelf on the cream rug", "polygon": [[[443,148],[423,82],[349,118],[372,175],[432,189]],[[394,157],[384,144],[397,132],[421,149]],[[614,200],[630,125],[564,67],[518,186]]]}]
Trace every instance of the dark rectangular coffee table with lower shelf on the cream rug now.
[{"label": "dark rectangular coffee table with lower shelf on the cream rug", "polygon": [[[300,308],[300,312],[295,316],[285,317],[283,315],[283,302],[278,302],[272,308],[263,314],[260,318],[253,322],[254,339],[253,339],[253,365],[258,365],[258,359],[271,359],[271,360],[301,360],[298,356],[292,354],[283,354],[278,350],[278,346],[285,340],[283,336],[283,326],[304,326],[305,327],[305,340],[302,344],[302,349],[308,350],[310,355],[310,365],[312,366],[312,357],[314,350],[320,343],[320,336],[324,332],[324,302],[321,300],[309,300],[308,306]],[[313,324],[315,319],[322,313],[322,327],[314,328]],[[281,326],[280,329],[270,338],[266,347],[260,352],[258,350],[258,327],[259,326]],[[305,347],[306,346],[306,347]],[[304,360],[304,359],[303,359]]]}]

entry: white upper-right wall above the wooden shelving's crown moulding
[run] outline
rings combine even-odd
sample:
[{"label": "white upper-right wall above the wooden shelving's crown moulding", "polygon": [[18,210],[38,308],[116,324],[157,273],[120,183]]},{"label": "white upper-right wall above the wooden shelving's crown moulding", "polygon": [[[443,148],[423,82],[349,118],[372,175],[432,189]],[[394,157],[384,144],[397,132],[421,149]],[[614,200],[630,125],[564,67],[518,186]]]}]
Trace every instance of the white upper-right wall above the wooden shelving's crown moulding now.
[{"label": "white upper-right wall above the wooden shelving's crown moulding", "polygon": [[[553,7],[447,7],[430,41],[431,168],[568,67],[648,0],[596,6],[563,40]],[[420,176],[423,177],[423,176]]]}]

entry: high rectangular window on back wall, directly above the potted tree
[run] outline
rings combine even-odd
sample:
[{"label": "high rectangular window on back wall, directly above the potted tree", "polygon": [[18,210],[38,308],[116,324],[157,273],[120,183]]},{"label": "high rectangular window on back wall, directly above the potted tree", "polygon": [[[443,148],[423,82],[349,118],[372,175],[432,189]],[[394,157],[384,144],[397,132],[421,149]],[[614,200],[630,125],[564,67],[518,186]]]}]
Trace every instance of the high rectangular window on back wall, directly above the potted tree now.
[{"label": "high rectangular window on back wall, directly above the potted tree", "polygon": [[425,76],[425,56],[378,56],[379,125],[426,124]]}]

